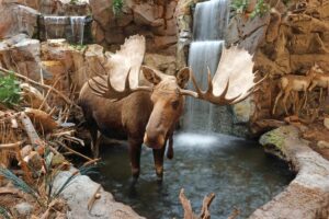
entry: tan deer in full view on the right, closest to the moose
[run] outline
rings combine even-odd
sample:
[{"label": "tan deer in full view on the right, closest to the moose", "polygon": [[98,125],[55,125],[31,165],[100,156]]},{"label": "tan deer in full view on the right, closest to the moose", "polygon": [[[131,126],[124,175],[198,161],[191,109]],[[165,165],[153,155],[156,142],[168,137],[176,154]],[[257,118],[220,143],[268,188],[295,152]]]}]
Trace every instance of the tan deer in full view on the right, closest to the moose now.
[{"label": "tan deer in full view on the right, closest to the moose", "polygon": [[280,92],[275,97],[272,114],[273,115],[275,114],[277,102],[283,96],[282,104],[284,106],[285,114],[288,115],[287,108],[286,108],[286,101],[287,101],[287,97],[292,94],[292,92],[295,92],[295,93],[304,92],[303,107],[305,107],[306,102],[307,102],[308,89],[309,89],[309,87],[310,87],[310,84],[311,84],[311,82],[313,82],[313,80],[314,80],[317,72],[322,72],[322,70],[317,65],[314,65],[306,72],[306,76],[288,74],[288,76],[281,77],[280,82],[279,82]]}]

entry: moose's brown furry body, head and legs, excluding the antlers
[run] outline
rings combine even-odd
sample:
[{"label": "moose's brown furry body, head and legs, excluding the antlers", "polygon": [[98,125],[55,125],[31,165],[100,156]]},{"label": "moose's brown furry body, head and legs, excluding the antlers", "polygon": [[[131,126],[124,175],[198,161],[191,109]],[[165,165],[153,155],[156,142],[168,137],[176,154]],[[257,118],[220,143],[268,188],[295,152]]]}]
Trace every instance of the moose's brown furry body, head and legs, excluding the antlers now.
[{"label": "moose's brown furry body, head and legs, excluding the antlers", "polygon": [[163,155],[169,139],[168,157],[172,158],[172,132],[183,112],[184,96],[179,88],[189,80],[190,70],[184,68],[178,74],[159,76],[144,68],[145,78],[154,83],[154,92],[139,91],[113,102],[93,94],[86,83],[81,89],[79,105],[91,131],[94,155],[99,155],[98,130],[110,138],[127,138],[132,172],[139,175],[141,143],[154,149],[156,172],[163,174]]}]

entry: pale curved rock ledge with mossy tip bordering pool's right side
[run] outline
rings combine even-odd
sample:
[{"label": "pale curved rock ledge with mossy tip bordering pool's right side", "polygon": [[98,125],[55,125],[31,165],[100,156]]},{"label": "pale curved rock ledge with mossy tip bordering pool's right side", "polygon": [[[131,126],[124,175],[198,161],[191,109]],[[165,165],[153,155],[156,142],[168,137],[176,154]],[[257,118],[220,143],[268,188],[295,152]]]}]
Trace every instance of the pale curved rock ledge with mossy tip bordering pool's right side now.
[{"label": "pale curved rock ledge with mossy tip bordering pool's right side", "polygon": [[283,126],[261,137],[265,150],[287,161],[297,175],[250,219],[329,217],[329,161],[311,150],[299,134],[294,126]]}]

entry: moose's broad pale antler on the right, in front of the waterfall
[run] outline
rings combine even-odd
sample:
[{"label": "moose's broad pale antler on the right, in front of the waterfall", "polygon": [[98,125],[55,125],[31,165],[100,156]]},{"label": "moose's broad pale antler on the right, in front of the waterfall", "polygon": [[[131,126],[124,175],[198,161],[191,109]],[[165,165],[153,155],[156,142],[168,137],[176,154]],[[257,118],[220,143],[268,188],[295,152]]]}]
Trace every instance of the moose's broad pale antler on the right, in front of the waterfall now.
[{"label": "moose's broad pale antler on the right, in front of the waterfall", "polygon": [[[257,85],[263,81],[262,79],[254,83],[252,68],[252,55],[247,50],[240,49],[237,46],[232,46],[229,49],[224,48],[217,71],[213,79],[211,70],[208,69],[207,90],[202,91],[200,89],[194,73],[191,70],[191,79],[195,91],[182,89],[181,94],[208,101],[217,105],[236,104],[247,99],[257,90]],[[223,88],[224,90],[220,91]]]}]

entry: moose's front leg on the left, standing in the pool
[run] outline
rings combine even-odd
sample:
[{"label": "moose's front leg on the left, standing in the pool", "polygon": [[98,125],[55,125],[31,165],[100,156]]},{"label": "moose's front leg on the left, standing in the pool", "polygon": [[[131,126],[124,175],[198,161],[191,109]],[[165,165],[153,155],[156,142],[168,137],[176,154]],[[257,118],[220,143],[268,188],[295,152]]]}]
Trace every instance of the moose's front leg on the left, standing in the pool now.
[{"label": "moose's front leg on the left, standing in the pool", "polygon": [[133,138],[128,139],[131,168],[134,181],[137,181],[139,177],[141,142],[143,140],[136,140]]}]

